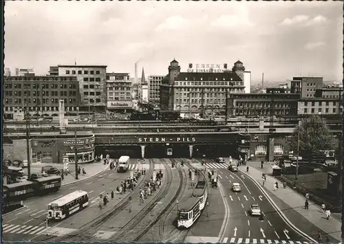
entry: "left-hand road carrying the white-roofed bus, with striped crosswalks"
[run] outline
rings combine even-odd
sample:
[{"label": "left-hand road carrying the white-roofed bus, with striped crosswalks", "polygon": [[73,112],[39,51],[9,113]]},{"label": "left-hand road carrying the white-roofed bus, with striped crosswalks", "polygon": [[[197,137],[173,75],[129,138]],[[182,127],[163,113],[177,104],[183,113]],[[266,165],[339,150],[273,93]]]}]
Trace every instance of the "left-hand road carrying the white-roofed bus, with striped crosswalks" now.
[{"label": "left-hand road carrying the white-roofed bus, with striped crosswalks", "polygon": [[[63,197],[64,195],[74,192],[75,190],[85,190],[89,192],[89,207],[83,211],[76,212],[69,218],[54,222],[50,221],[49,227],[54,228],[54,235],[65,235],[78,229],[84,223],[91,221],[100,214],[98,207],[98,197],[102,193],[116,192],[116,187],[120,185],[123,179],[130,176],[131,170],[137,168],[148,168],[149,164],[140,164],[138,166],[137,159],[130,159],[129,169],[127,173],[117,173],[115,170],[106,170],[105,172],[76,182],[67,186],[62,186],[58,192],[46,195],[44,197],[34,197],[24,201],[27,208],[23,208],[18,212],[8,214],[3,217],[3,240],[4,241],[36,241],[35,238],[40,234],[45,234],[45,217],[47,214],[47,205]],[[115,204],[115,203],[114,203]],[[110,204],[111,206],[111,204]]]}]

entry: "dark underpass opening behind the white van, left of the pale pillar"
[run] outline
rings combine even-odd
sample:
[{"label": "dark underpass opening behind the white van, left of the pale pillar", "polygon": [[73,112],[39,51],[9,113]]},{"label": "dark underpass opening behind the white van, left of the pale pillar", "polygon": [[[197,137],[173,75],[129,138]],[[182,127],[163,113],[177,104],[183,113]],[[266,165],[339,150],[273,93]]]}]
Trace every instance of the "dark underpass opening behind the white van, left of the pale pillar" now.
[{"label": "dark underpass opening behind the white van, left of the pale pillar", "polygon": [[96,146],[96,155],[103,154],[105,157],[109,154],[112,159],[119,159],[120,156],[129,156],[131,158],[141,157],[140,146]]}]

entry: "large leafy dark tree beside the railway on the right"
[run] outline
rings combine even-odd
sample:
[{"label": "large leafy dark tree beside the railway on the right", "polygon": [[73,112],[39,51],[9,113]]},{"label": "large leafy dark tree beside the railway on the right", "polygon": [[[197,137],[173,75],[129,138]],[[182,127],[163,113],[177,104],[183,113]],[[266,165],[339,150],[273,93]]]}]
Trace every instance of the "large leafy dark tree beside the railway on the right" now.
[{"label": "large leafy dark tree beside the railway on the right", "polygon": [[308,159],[323,155],[322,150],[331,150],[336,146],[334,136],[325,122],[318,115],[301,120],[300,126],[297,126],[288,138],[290,149],[297,152],[297,137],[299,134],[299,156]]}]

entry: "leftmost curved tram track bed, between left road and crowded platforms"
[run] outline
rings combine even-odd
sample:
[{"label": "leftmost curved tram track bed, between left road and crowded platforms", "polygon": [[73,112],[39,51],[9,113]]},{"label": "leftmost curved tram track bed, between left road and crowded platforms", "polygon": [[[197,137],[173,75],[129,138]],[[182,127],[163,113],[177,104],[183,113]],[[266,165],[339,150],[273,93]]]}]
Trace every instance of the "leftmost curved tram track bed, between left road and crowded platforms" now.
[{"label": "leftmost curved tram track bed, between left road and crowded platforms", "polygon": [[[118,202],[116,204],[116,206],[114,206],[113,208],[103,212],[102,214],[100,214],[98,217],[96,217],[96,219],[92,219],[92,221],[89,221],[87,223],[84,223],[83,225],[81,225],[77,231],[72,232],[71,234],[65,235],[65,236],[50,236],[46,239],[40,240],[40,241],[84,241],[85,237],[87,239],[87,241],[89,240],[89,238],[87,237],[87,232],[89,232],[90,229],[94,229],[97,228],[98,225],[101,225],[102,223],[104,223],[105,221],[109,220],[110,218],[116,217],[117,214],[119,214],[122,210],[124,210],[128,204],[130,203],[129,198],[133,199],[134,196],[138,195],[139,189],[144,186],[144,181],[148,181],[151,177],[151,175],[153,174],[153,170],[154,170],[154,164],[151,160],[149,160],[149,170],[147,171],[147,174],[144,175],[144,177],[142,177],[138,183],[138,185],[136,186],[136,188],[132,191],[129,192],[129,194],[125,197],[123,197],[123,199]],[[54,227],[52,227],[54,228]]]}]

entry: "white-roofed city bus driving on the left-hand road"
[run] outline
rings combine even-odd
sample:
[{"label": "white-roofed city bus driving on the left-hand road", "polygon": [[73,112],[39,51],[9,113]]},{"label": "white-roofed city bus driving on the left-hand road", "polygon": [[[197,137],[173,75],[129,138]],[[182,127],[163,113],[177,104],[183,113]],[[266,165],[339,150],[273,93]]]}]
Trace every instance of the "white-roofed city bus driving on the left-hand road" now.
[{"label": "white-roofed city bus driving on the left-hand road", "polygon": [[76,190],[64,197],[56,199],[47,206],[47,218],[61,220],[69,217],[88,205],[88,193]]}]

